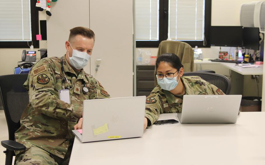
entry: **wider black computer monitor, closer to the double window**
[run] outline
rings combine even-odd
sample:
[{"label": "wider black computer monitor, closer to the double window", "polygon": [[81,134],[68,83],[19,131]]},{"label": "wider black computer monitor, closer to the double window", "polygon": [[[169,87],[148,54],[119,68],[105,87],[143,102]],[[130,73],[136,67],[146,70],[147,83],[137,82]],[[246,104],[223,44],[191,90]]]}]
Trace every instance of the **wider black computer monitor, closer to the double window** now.
[{"label": "wider black computer monitor, closer to the double window", "polygon": [[211,46],[243,46],[243,26],[211,26]]}]

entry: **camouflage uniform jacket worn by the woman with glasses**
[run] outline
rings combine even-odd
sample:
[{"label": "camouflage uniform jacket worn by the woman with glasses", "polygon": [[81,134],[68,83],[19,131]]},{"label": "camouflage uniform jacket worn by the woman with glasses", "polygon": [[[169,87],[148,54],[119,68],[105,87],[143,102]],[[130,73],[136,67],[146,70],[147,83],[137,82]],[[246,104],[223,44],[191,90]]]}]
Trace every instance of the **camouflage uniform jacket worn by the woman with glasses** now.
[{"label": "camouflage uniform jacket worn by the woman with glasses", "polygon": [[218,87],[206,82],[199,76],[183,76],[181,81],[185,89],[182,95],[174,95],[157,85],[146,98],[147,127],[158,120],[160,113],[181,113],[183,95],[224,95],[224,92]]}]

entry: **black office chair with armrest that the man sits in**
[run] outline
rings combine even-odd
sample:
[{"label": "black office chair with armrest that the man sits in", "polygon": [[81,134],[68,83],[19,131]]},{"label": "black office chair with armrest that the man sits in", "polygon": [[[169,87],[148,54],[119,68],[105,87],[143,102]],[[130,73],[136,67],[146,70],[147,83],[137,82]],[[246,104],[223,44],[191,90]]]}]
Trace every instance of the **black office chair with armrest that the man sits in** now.
[{"label": "black office chair with armrest that the man sits in", "polygon": [[6,148],[6,165],[12,164],[13,156],[17,150],[25,150],[26,147],[14,141],[15,131],[20,127],[20,117],[29,103],[29,95],[23,87],[28,74],[13,74],[0,76],[0,92],[3,101],[3,108],[6,115],[9,140],[1,141]]}]

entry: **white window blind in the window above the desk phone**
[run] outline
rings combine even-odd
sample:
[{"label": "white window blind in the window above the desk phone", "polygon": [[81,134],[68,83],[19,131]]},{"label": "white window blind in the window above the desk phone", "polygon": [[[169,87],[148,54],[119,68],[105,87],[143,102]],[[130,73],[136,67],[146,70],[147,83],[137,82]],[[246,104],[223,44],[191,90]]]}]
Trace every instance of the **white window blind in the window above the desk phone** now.
[{"label": "white window blind in the window above the desk phone", "polygon": [[0,0],[0,41],[31,41],[30,0]]}]

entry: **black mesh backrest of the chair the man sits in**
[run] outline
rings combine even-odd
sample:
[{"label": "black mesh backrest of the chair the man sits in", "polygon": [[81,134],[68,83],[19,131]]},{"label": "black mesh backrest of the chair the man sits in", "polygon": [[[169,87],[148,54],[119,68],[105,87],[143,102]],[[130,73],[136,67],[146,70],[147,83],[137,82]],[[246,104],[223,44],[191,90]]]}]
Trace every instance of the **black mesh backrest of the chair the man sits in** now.
[{"label": "black mesh backrest of the chair the man sits in", "polygon": [[28,74],[0,76],[0,92],[6,115],[9,140],[14,140],[15,131],[20,127],[20,117],[29,103],[29,95],[23,87]]}]

